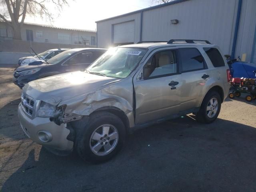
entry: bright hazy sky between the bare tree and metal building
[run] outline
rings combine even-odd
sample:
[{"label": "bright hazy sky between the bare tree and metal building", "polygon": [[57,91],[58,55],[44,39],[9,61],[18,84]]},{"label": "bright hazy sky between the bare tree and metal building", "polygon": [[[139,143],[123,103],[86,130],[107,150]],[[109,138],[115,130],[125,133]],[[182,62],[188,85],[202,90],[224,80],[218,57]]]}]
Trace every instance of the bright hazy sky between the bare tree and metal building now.
[{"label": "bright hazy sky between the bare tree and metal building", "polygon": [[[152,6],[151,0],[74,0],[65,7],[52,25],[95,30],[95,21]],[[54,6],[49,4],[54,12]],[[26,16],[25,22],[50,24],[42,18]]]}]

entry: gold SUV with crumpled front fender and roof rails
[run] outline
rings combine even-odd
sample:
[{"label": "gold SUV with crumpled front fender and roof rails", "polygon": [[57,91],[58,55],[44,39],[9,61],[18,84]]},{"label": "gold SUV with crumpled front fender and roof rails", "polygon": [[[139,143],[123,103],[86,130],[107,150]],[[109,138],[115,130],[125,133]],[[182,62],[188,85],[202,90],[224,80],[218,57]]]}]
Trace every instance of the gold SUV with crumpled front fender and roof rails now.
[{"label": "gold SUV with crumpled front fender and roof rails", "polygon": [[29,82],[18,117],[48,150],[103,162],[137,128],[190,113],[213,122],[229,80],[218,46],[208,41],[139,42],[111,48],[84,71]]}]

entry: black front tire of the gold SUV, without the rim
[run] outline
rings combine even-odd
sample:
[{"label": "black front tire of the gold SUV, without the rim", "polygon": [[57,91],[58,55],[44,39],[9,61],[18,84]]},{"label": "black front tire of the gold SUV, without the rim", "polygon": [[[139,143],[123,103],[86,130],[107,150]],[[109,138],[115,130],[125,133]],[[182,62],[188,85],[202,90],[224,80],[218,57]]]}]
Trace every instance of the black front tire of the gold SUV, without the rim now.
[{"label": "black front tire of the gold SUV, without the rim", "polygon": [[[96,112],[89,117],[87,124],[84,120],[79,120],[76,124],[75,149],[78,155],[85,161],[101,163],[114,157],[124,145],[126,129],[124,123],[118,116],[109,112]],[[91,150],[91,136],[94,131],[104,124],[114,126],[118,132],[118,141],[114,149],[106,155],[96,155]]]}]

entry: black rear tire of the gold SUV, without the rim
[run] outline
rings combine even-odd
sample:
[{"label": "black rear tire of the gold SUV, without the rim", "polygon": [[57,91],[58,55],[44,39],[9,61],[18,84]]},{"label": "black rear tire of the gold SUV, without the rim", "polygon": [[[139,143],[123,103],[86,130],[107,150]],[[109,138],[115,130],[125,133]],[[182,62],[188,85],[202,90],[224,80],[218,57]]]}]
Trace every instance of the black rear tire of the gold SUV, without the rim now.
[{"label": "black rear tire of the gold SUV, without the rim", "polygon": [[[218,101],[218,109],[216,111],[216,114],[213,116],[213,117],[208,117],[207,115],[207,106],[208,106],[208,103],[210,102],[210,100],[214,98]],[[196,120],[198,122],[201,122],[201,123],[211,123],[213,122],[214,120],[216,120],[216,118],[218,117],[219,113],[220,113],[220,108],[221,108],[221,98],[220,98],[220,94],[218,94],[218,92],[216,91],[211,91],[211,92],[208,92],[206,94],[206,96],[204,97],[204,100],[200,106],[200,110],[198,111],[198,113],[196,114]]]}]

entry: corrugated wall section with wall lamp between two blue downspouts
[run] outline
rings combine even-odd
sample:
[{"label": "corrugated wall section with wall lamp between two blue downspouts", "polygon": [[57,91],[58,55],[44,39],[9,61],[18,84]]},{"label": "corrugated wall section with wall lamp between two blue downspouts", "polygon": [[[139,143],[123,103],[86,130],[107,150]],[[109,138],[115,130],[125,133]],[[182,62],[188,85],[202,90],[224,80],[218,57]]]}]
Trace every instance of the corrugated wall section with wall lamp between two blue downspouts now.
[{"label": "corrugated wall section with wall lamp between two blue downspouts", "polygon": [[[206,39],[228,54],[235,7],[236,0],[190,0],[146,11],[142,40]],[[172,19],[179,23],[170,24]]]}]

